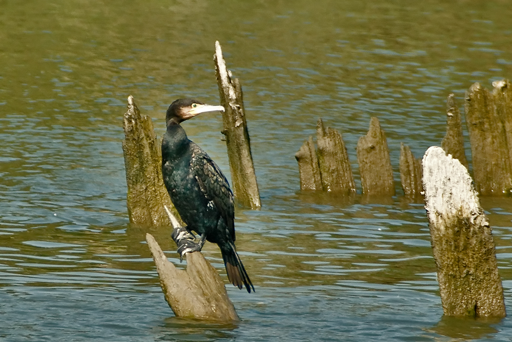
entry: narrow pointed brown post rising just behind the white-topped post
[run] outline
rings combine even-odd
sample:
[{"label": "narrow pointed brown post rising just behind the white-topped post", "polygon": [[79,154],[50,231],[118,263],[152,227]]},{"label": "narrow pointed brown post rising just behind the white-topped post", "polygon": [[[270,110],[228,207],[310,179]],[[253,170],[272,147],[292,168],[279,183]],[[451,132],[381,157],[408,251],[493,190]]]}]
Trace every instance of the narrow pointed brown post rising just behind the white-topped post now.
[{"label": "narrow pointed brown post rising just behind the white-topped post", "polygon": [[441,148],[453,158],[459,159],[459,162],[468,169],[460,110],[453,94],[448,95],[446,100],[446,135],[441,142]]}]

